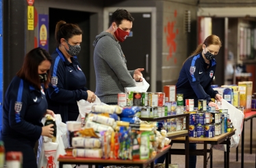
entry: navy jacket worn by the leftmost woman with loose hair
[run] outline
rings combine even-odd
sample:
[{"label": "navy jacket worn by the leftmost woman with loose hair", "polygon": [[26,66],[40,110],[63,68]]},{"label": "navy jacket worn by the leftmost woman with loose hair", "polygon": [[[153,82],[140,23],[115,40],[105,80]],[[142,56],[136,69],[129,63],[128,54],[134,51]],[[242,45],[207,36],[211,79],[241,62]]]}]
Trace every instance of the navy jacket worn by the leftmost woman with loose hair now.
[{"label": "navy jacket worn by the leftmost woman with loose hair", "polygon": [[3,129],[1,139],[5,147],[34,143],[42,133],[42,117],[47,111],[43,90],[35,89],[27,81],[15,76],[3,103]]}]

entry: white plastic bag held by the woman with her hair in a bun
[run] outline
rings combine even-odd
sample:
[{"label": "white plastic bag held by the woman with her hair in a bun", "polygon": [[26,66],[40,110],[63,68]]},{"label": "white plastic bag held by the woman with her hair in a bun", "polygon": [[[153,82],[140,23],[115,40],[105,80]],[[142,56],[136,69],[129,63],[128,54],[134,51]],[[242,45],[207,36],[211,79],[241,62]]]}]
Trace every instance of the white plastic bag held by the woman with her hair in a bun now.
[{"label": "white plastic bag held by the woman with her hair in a bun", "polygon": [[85,124],[84,119],[86,118],[86,114],[88,114],[88,113],[90,113],[90,111],[92,111],[92,106],[95,104],[107,105],[107,104],[101,102],[101,100],[98,98],[98,96],[96,96],[96,99],[94,102],[88,102],[84,99],[79,100],[77,102],[78,109],[79,109],[79,115],[77,117],[77,122],[81,122],[81,126],[84,126],[84,124]]}]

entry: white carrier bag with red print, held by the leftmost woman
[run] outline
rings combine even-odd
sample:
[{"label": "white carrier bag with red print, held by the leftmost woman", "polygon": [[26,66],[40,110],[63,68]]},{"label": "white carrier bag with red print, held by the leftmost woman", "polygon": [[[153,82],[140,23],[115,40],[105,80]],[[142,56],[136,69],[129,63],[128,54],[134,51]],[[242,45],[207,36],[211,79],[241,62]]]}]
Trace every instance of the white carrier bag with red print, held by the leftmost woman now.
[{"label": "white carrier bag with red print, held by the leftmost woman", "polygon": [[[42,124],[45,122],[45,117],[42,118]],[[38,140],[38,156],[37,163],[40,168],[59,167],[57,158],[65,155],[65,146],[68,146],[66,124],[62,122],[60,114],[55,115],[55,124],[57,126],[56,141],[52,142],[51,138],[41,136]],[[66,139],[66,140],[65,140]],[[64,144],[65,143],[65,144]],[[64,165],[64,168],[72,168],[71,165]]]}]

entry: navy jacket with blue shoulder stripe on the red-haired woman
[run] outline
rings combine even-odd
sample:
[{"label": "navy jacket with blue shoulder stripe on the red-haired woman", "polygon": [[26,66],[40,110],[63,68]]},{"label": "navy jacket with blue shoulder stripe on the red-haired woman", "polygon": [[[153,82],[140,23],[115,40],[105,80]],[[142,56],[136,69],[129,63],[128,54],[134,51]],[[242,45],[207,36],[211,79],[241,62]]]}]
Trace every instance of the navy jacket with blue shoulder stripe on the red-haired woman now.
[{"label": "navy jacket with blue shoulder stripe on the red-haired woman", "polygon": [[185,99],[194,99],[194,107],[197,107],[198,100],[215,98],[218,92],[211,87],[215,70],[216,60],[207,64],[201,53],[185,61],[176,84],[177,94],[183,94],[184,105]]}]

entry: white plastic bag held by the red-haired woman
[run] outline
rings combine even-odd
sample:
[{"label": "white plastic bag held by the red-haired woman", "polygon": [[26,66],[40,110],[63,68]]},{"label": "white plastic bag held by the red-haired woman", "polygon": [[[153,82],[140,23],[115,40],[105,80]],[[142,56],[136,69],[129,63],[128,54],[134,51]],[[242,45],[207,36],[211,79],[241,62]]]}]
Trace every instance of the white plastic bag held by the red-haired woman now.
[{"label": "white plastic bag held by the red-haired woman", "polygon": [[233,123],[235,130],[235,135],[231,137],[230,148],[236,148],[240,141],[240,136],[242,134],[244,113],[239,109],[235,108],[232,104],[222,99],[222,103],[218,102],[219,109],[228,109],[229,119]]}]

